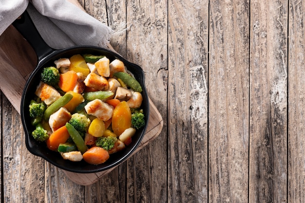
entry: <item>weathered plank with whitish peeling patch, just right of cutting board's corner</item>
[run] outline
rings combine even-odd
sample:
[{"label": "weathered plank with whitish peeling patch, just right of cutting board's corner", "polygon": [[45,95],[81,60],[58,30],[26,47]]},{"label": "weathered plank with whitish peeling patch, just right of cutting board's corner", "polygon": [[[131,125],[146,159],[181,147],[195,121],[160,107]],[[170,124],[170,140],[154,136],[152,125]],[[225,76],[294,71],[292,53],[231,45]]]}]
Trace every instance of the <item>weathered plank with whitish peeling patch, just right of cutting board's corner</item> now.
[{"label": "weathered plank with whitish peeling patch, just right of cutting board's corner", "polygon": [[209,1],[168,4],[168,201],[207,202]]}]

